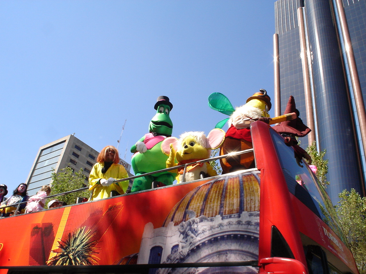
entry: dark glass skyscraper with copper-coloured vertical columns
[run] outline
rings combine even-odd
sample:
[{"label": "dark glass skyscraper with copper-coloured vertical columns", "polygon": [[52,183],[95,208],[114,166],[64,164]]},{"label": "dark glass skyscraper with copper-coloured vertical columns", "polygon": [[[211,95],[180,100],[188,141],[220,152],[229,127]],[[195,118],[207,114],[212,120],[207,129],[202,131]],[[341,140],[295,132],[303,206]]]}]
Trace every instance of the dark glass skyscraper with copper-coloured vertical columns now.
[{"label": "dark glass skyscraper with copper-coloured vertical columns", "polygon": [[[293,95],[329,160],[333,203],[343,189],[365,196],[366,1],[275,2],[275,114]],[[364,145],[365,144],[365,145]]]}]

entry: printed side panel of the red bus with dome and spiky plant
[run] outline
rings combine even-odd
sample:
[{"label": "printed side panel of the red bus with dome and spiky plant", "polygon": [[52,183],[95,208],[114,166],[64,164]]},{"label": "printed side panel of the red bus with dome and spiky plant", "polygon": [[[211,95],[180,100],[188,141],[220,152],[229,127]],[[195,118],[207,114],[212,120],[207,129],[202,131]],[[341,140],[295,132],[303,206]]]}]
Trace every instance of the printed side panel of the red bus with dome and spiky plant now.
[{"label": "printed side panel of the red bus with dome and spiky plant", "polygon": [[0,265],[256,261],[259,176],[227,175],[3,218]]}]

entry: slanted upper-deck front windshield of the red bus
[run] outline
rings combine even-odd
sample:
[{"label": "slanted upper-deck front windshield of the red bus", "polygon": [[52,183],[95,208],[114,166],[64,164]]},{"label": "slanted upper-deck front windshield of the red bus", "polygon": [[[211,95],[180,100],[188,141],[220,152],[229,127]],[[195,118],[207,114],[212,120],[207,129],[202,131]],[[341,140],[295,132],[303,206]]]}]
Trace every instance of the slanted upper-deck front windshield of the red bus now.
[{"label": "slanted upper-deck front windshield of the red bus", "polygon": [[341,232],[338,218],[324,187],[308,165],[296,158],[294,149],[284,143],[284,139],[274,130],[270,130],[288,190],[303,204],[321,218],[346,243]]}]

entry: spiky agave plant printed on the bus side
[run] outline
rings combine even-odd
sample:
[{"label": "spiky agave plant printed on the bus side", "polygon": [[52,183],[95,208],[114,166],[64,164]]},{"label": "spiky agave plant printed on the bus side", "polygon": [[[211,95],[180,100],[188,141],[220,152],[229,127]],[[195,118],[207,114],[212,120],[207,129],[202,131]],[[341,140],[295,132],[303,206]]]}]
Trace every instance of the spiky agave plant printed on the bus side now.
[{"label": "spiky agave plant printed on the bus side", "polygon": [[97,265],[99,254],[97,240],[91,240],[94,233],[81,227],[75,229],[64,240],[60,240],[57,249],[52,250],[56,255],[48,260],[47,265]]}]

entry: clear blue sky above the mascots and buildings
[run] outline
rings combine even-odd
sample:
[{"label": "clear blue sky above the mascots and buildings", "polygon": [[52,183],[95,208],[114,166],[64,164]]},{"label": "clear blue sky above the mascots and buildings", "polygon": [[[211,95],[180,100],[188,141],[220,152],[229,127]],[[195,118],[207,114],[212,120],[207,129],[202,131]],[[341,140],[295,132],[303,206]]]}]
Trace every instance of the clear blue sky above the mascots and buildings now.
[{"label": "clear blue sky above the mascots and buildings", "polygon": [[1,183],[24,183],[40,146],[72,133],[117,146],[126,119],[130,163],[160,95],[176,137],[226,118],[212,92],[273,98],[274,25],[274,1],[0,0]]}]

